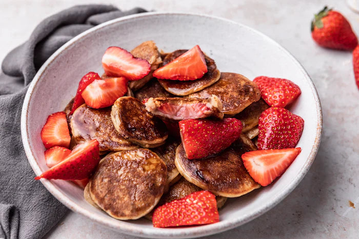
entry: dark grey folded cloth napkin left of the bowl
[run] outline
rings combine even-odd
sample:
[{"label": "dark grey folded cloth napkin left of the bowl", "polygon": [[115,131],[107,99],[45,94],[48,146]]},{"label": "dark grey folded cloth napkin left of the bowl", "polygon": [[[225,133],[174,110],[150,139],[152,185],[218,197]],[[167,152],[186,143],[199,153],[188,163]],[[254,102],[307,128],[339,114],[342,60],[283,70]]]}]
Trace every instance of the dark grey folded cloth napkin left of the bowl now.
[{"label": "dark grey folded cloth napkin left of the bowl", "polygon": [[109,5],[66,9],[44,19],[27,42],[5,57],[0,74],[0,239],[40,238],[67,210],[34,180],[21,140],[21,109],[36,71],[79,33],[110,19],[140,12],[145,10],[120,11]]}]

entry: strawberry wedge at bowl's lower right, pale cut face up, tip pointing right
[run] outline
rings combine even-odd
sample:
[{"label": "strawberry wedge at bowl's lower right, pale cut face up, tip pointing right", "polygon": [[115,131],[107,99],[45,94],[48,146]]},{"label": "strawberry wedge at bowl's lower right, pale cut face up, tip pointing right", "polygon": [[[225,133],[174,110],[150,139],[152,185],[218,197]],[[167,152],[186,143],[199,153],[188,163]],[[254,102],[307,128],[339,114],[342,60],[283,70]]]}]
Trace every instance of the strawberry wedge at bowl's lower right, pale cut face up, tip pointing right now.
[{"label": "strawberry wedge at bowl's lower right, pale cut face up, tip pointing right", "polygon": [[243,164],[255,182],[267,186],[282,175],[301,148],[256,150],[242,154]]}]

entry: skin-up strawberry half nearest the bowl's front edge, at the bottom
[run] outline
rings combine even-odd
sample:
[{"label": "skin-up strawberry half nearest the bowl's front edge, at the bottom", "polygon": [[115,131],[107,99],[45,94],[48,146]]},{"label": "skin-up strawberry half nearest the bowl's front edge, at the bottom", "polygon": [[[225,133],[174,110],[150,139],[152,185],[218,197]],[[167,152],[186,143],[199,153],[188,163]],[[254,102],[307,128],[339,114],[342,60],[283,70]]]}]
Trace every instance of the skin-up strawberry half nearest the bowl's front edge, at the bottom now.
[{"label": "skin-up strawberry half nearest the bowl's front edge, at the bottom", "polygon": [[193,192],[158,207],[152,215],[154,227],[178,227],[217,223],[220,216],[213,193]]}]

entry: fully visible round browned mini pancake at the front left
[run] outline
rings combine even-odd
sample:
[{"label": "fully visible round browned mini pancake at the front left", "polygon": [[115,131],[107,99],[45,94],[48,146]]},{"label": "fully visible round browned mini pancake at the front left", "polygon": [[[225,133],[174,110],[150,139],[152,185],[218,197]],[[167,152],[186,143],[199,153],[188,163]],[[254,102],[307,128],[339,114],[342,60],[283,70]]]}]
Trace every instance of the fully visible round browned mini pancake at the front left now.
[{"label": "fully visible round browned mini pancake at the front left", "polygon": [[149,213],[167,181],[166,164],[149,149],[110,154],[99,163],[89,186],[92,201],[119,220]]}]

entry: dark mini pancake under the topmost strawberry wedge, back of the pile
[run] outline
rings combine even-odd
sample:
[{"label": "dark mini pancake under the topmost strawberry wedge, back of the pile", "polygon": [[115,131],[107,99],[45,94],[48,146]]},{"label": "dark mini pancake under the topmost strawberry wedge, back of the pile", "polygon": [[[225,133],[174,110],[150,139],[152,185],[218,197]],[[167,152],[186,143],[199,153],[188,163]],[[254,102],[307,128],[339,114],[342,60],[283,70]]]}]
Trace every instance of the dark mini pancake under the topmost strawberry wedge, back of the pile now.
[{"label": "dark mini pancake under the topmost strawberry wedge, back of the pile", "polygon": [[[176,50],[172,53],[166,55],[163,59],[162,66],[172,62],[175,58],[182,55],[188,50]],[[213,59],[205,55],[206,64],[207,64],[207,73],[203,75],[202,78],[196,79],[194,81],[172,81],[170,79],[158,79],[158,82],[170,93],[175,95],[188,95],[193,92],[200,91],[220,79],[221,73],[217,69]]]}]

